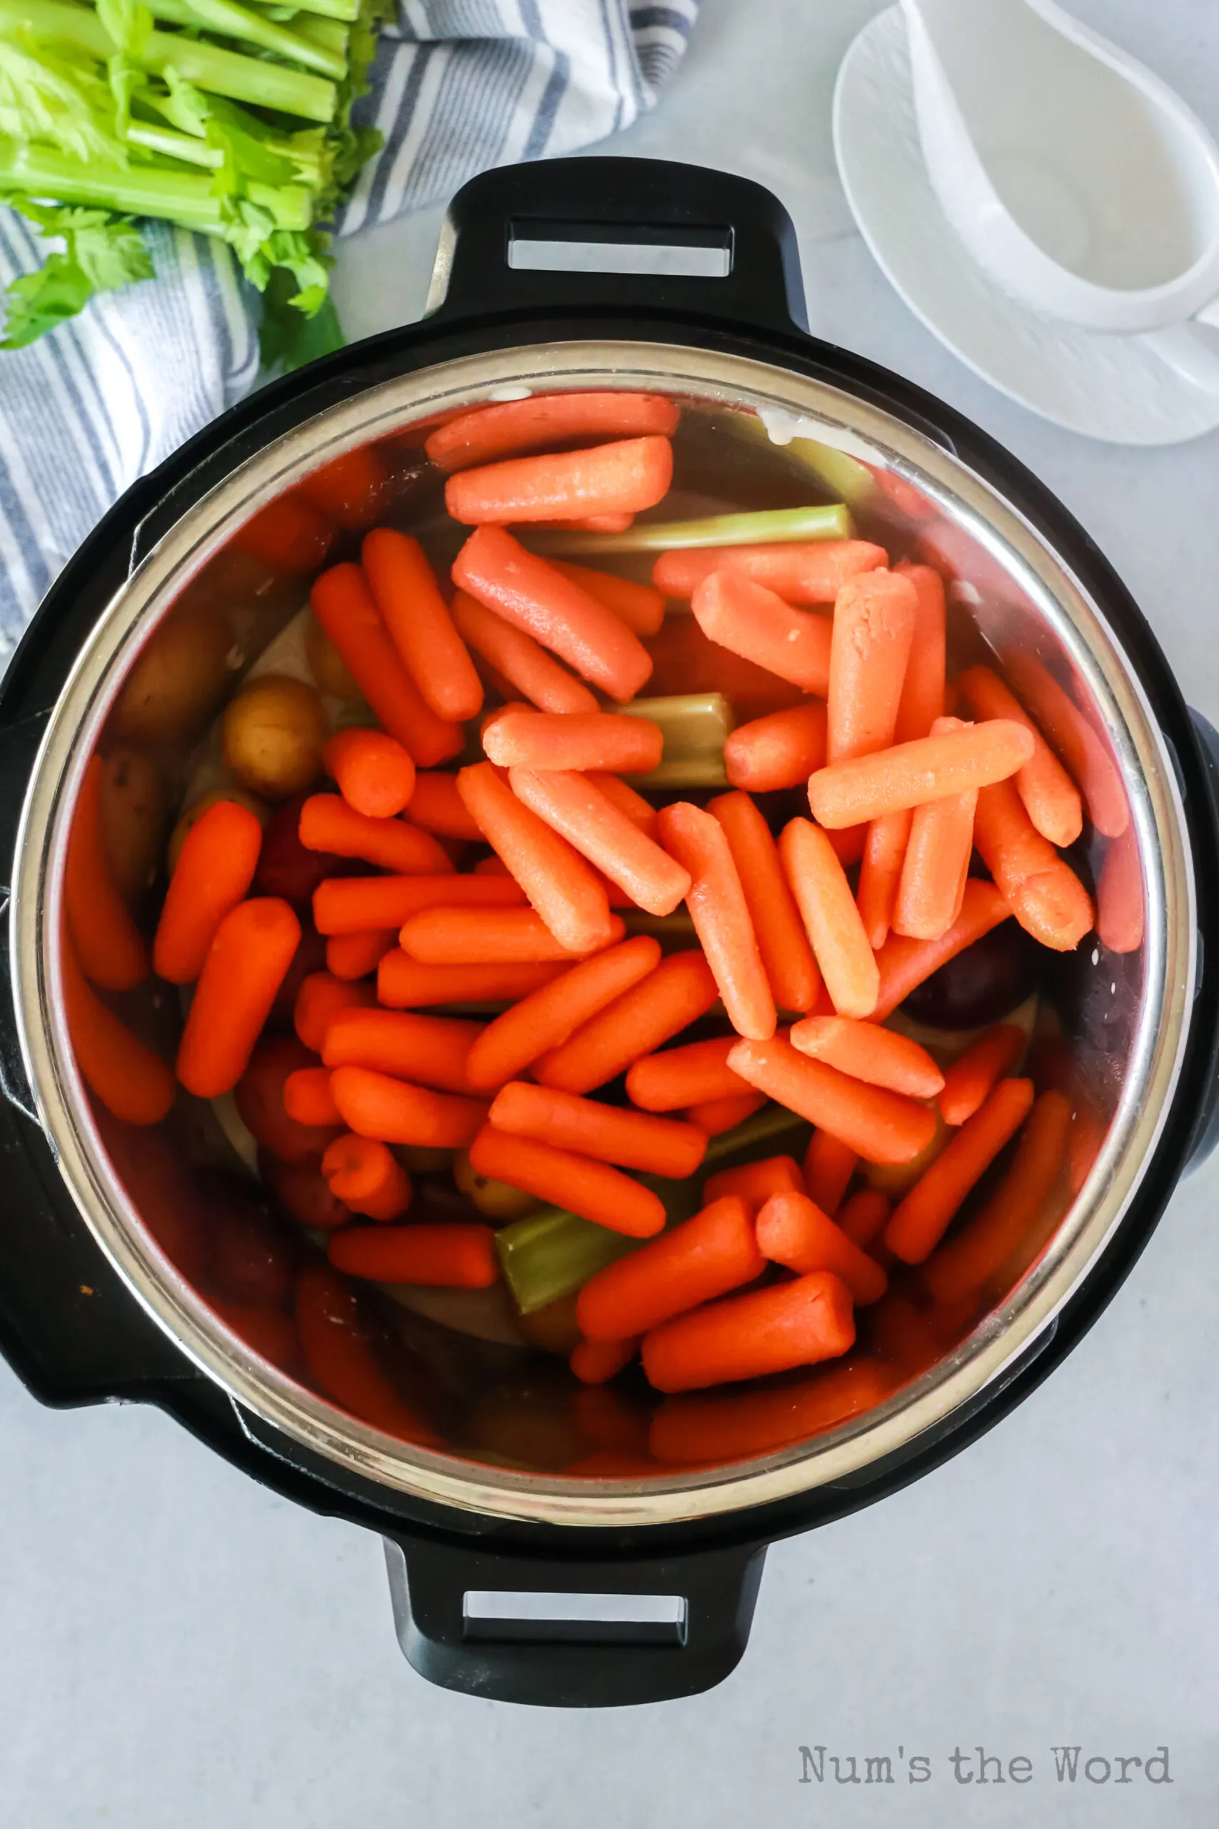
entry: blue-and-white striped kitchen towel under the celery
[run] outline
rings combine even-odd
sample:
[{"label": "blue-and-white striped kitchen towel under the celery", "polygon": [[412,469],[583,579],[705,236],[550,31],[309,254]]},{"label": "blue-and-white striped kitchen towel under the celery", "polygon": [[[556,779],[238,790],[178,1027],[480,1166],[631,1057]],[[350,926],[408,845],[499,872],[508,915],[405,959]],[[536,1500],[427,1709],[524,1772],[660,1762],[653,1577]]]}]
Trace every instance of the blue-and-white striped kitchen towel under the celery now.
[{"label": "blue-and-white striped kitchen towel under the celery", "polygon": [[[696,11],[698,0],[398,0],[356,108],[384,146],[340,236],[442,201],[493,165],[629,126],[658,99]],[[155,280],[101,293],[40,342],[0,351],[0,671],[110,503],[256,380],[258,302],[228,249],[161,223],[144,238]],[[0,207],[0,285],[44,254]]]}]

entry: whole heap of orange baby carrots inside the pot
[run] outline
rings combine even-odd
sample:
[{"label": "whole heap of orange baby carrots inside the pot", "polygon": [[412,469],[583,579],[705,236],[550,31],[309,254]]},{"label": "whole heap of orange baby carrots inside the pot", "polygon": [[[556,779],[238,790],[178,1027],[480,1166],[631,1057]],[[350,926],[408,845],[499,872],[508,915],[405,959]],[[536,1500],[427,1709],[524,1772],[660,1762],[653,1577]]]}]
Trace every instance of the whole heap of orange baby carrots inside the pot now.
[{"label": "whole heap of orange baby carrots inside the pot", "polygon": [[[941,1070],[886,1019],[1000,922],[1055,951],[1093,931],[1064,856],[1086,818],[1109,841],[1102,936],[1142,938],[1120,777],[1036,658],[949,680],[934,567],[890,569],[855,538],[709,543],[662,552],[647,585],[535,551],[537,532],[614,536],[656,508],[676,424],[674,402],[632,393],[457,413],[426,446],[470,529],[450,576],[375,527],[313,583],[378,728],[331,737],[300,810],[300,845],[353,874],[313,894],[325,969],[270,1066],[302,913],[250,893],[247,807],[192,825],[148,946],[106,872],[90,765],[64,946],[80,1072],[115,1116],[159,1121],[175,1081],[236,1090],[260,1143],[325,1183],[331,1266],[389,1284],[499,1280],[493,1225],[411,1205],[406,1152],[468,1152],[473,1174],[629,1242],[579,1289],[570,1364],[598,1385],[640,1357],[662,1392],[844,1355],[894,1264],[923,1266],[939,1300],[994,1277],[1064,1172],[1071,1105],[1018,1075],[1018,1026]],[[733,730],[705,805],[647,786],[665,746],[647,640],[671,600],[786,690]],[[802,786],[811,818],[775,836],[758,796]],[[685,949],[627,931],[682,907]],[[174,1070],[99,995],[150,969],[190,988]],[[435,1013],[488,1002],[490,1019]],[[716,1011],[731,1033],[682,1039]],[[804,1161],[711,1174],[667,1224],[652,1178],[696,1178],[709,1139],[768,1101],[811,1123]],[[908,1171],[896,1203],[850,1193],[863,1165]]]}]

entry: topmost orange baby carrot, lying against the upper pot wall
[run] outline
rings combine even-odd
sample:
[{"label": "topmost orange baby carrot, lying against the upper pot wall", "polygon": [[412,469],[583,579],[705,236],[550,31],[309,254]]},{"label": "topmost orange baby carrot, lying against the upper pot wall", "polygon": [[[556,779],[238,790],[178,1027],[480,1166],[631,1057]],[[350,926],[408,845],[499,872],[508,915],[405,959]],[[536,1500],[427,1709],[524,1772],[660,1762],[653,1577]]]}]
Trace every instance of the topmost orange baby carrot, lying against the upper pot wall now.
[{"label": "topmost orange baby carrot, lying against the upper pot wall", "polygon": [[680,408],[663,393],[629,393],[625,388],[541,393],[457,413],[428,437],[424,450],[442,470],[466,470],[567,439],[669,435],[678,419]]}]

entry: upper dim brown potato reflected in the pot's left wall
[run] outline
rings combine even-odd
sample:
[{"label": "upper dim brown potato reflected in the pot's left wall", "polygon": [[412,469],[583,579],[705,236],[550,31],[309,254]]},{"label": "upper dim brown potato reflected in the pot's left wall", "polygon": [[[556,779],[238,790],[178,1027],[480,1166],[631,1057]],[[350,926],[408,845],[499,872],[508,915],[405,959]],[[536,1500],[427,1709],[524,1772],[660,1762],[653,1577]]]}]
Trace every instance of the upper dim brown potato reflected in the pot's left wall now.
[{"label": "upper dim brown potato reflected in the pot's left wall", "polygon": [[232,631],[217,609],[175,611],[132,668],[113,715],[128,743],[194,743],[232,679]]}]

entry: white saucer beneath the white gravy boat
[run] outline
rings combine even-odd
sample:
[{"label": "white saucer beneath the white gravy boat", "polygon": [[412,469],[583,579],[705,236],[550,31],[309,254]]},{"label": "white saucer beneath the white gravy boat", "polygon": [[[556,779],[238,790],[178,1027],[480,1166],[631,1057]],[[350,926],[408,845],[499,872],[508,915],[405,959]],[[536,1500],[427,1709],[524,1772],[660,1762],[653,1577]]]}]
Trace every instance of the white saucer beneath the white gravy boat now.
[{"label": "white saucer beneath the white gravy boat", "polygon": [[1022,406],[1111,444],[1179,444],[1219,426],[1219,397],[1139,337],[1042,318],[974,263],[932,192],[899,7],[866,26],[833,91],[833,148],[881,271],[941,344]]}]

